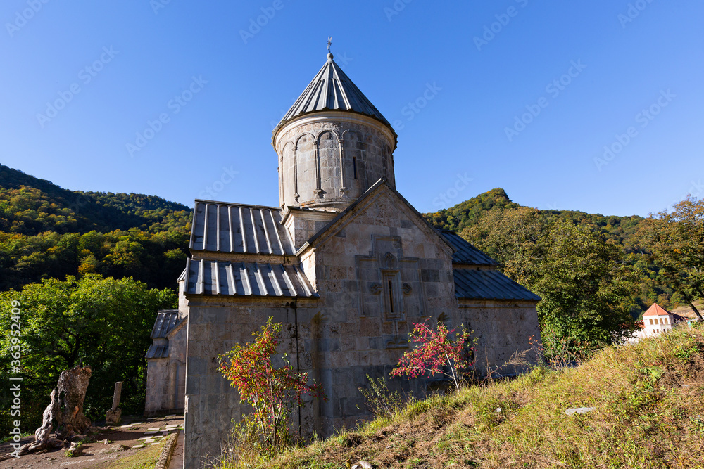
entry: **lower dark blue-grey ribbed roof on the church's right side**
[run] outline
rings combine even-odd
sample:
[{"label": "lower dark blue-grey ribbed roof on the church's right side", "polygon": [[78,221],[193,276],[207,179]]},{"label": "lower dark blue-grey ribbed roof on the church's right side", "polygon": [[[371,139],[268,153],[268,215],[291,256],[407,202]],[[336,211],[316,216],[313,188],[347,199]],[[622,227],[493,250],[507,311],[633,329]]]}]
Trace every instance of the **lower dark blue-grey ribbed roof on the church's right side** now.
[{"label": "lower dark blue-grey ribbed roof on the church's right side", "polygon": [[540,297],[495,270],[453,269],[455,296],[471,300],[532,300]]}]

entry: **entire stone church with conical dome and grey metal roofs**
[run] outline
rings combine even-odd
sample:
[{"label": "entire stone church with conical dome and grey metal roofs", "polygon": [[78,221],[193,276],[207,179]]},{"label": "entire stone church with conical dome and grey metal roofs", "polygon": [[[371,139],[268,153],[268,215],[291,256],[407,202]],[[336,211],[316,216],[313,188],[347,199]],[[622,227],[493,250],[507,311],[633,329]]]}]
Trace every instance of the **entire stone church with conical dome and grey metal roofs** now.
[{"label": "entire stone church with conical dome and grey metal roofs", "polygon": [[[185,368],[184,468],[218,455],[243,411],[218,355],[268,316],[292,366],[324,386],[329,400],[294,412],[322,437],[370,417],[358,388],[388,377],[414,323],[473,330],[480,371],[539,338],[539,297],[396,191],[396,139],[329,53],[273,131],[279,206],[196,200],[180,308],[160,313],[148,352],[149,411],[180,405]],[[422,396],[437,379],[390,383]]]}]

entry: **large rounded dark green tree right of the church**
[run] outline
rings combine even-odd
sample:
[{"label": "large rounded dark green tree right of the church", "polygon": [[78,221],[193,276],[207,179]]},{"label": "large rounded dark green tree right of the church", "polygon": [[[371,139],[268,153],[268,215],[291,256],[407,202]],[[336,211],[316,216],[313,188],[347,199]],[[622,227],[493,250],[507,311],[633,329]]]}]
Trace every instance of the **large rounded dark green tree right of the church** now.
[{"label": "large rounded dark green tree right of the church", "polygon": [[588,226],[562,223],[543,243],[531,285],[542,298],[537,309],[543,334],[572,348],[629,338],[636,327],[630,307],[638,278],[623,249]]}]

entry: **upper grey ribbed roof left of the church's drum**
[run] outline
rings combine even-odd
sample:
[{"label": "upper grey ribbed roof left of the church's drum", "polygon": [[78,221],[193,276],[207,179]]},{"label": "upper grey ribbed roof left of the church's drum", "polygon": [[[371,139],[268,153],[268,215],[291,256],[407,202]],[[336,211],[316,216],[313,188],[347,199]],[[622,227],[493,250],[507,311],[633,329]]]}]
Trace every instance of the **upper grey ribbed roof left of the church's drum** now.
[{"label": "upper grey ribbed roof left of the church's drum", "polygon": [[248,254],[294,253],[289,234],[281,224],[279,209],[206,200],[196,200],[191,249]]}]

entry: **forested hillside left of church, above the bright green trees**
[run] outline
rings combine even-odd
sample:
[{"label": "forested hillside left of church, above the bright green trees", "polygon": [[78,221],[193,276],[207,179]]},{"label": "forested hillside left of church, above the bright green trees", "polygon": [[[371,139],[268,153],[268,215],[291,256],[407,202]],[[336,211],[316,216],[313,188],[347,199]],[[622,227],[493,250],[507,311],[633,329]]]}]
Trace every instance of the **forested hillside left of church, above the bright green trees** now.
[{"label": "forested hillside left of church, above the bright green trees", "polygon": [[68,191],[0,165],[0,290],[89,273],[175,288],[191,213],[152,195]]}]

